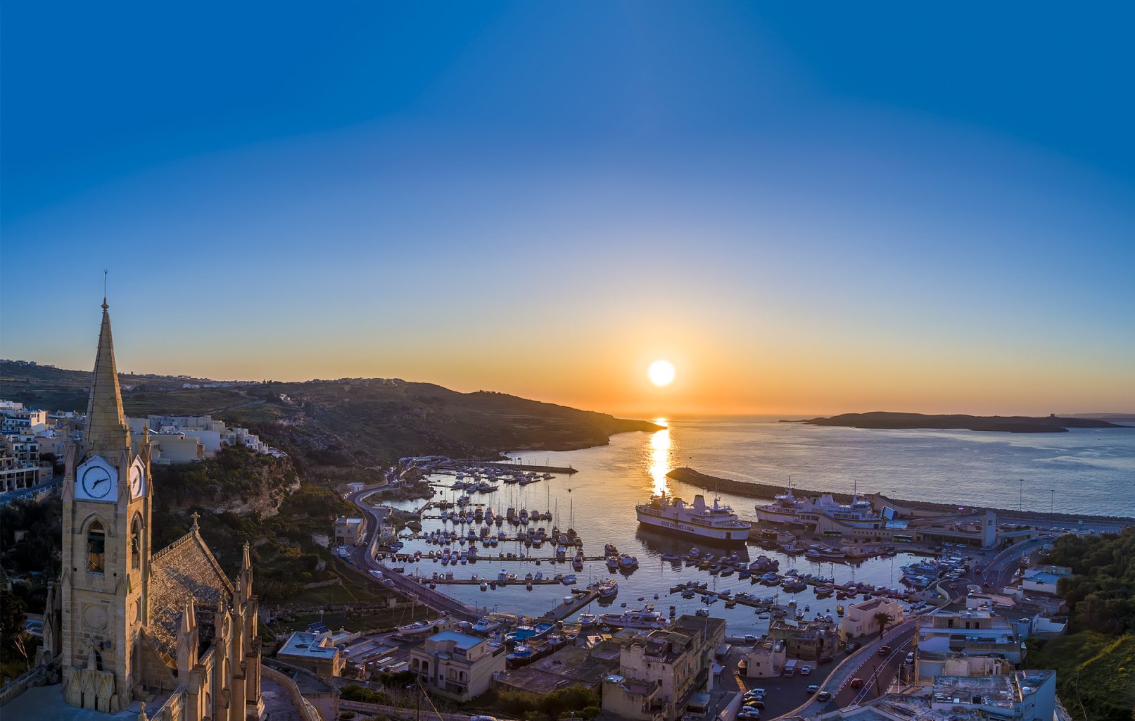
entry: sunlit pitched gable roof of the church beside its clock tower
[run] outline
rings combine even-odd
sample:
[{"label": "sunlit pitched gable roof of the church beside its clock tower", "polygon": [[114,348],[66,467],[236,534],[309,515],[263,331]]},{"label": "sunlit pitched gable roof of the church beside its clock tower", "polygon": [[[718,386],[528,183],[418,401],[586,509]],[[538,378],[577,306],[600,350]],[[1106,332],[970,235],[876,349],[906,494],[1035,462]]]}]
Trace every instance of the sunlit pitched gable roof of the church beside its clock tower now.
[{"label": "sunlit pitched gable roof of the church beside its clock tower", "polygon": [[[150,624],[146,635],[170,663],[177,654],[177,629],[186,598],[202,611],[233,602],[233,584],[196,529],[169,544],[151,559]],[[208,613],[205,613],[208,615]],[[203,614],[196,613],[197,627]]]}]

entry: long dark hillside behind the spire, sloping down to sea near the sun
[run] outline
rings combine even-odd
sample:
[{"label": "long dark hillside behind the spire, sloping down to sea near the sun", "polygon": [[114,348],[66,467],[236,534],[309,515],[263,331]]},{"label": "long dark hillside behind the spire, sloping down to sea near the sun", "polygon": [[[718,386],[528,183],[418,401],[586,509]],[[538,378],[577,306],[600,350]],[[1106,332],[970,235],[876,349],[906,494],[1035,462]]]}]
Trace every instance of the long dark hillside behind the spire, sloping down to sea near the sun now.
[{"label": "long dark hillside behind the spire, sloping down to sea near the sun", "polygon": [[[306,480],[359,479],[405,455],[494,458],[505,451],[564,451],[606,445],[628,430],[657,430],[641,420],[428,383],[353,378],[183,388],[203,379],[120,374],[133,417],[211,413],[258,433],[293,455]],[[86,410],[87,371],[5,361],[3,395],[35,408]]]}]

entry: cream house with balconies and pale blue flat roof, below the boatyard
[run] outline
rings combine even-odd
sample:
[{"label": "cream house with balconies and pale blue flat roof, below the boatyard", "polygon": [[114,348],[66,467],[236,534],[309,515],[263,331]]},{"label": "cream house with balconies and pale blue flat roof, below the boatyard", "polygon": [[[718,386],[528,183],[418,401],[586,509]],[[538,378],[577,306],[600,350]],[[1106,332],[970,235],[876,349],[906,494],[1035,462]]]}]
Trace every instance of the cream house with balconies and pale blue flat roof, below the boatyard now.
[{"label": "cream house with balconies and pale blue flat roof, below the boatyard", "polygon": [[488,690],[493,674],[504,671],[505,653],[486,638],[442,631],[410,652],[410,670],[428,690],[463,702]]}]

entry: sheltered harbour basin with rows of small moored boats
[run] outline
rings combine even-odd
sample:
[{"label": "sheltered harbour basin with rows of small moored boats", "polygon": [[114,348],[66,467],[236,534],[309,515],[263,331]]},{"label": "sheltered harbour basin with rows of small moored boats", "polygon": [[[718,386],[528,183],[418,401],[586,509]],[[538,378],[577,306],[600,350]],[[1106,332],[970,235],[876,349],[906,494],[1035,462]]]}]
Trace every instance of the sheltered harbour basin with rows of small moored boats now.
[{"label": "sheltered harbour basin with rows of small moored boats", "polygon": [[[763,428],[774,448],[774,434],[855,433],[796,424],[787,429],[775,424]],[[404,545],[390,565],[420,578],[427,589],[432,584],[432,593],[479,613],[539,617],[548,611],[572,621],[655,604],[666,615],[673,607],[679,615],[708,612],[724,618],[730,634],[735,635],[766,632],[773,612],[780,609],[787,614],[790,604],[799,610],[808,607],[807,618],[835,619],[841,607],[868,596],[896,598],[908,607],[919,607],[924,592],[932,589],[938,579],[935,573],[941,571],[948,577],[953,572],[938,568],[940,553],[872,538],[850,543],[847,538],[809,537],[789,519],[777,523],[763,518],[750,498],[729,494],[715,498],[712,492],[667,479],[666,473],[688,447],[680,447],[671,438],[672,433],[622,434],[613,436],[609,446],[548,453],[553,460],[547,467],[571,467],[577,472],[553,473],[552,478],[541,475],[539,481],[528,484],[498,480],[495,489],[485,493],[452,487],[456,480],[486,480],[470,478],[468,472],[451,469],[431,476],[435,496],[424,509],[421,502],[394,504],[422,510],[422,522],[420,531],[406,533],[400,539]],[[457,479],[457,472],[463,472],[463,478]],[[928,472],[933,476],[934,471]],[[782,495],[793,495],[794,485],[785,476]],[[886,487],[885,479],[881,485]],[[791,506],[793,514],[826,508],[874,522],[865,505],[856,508],[855,497],[857,489],[874,491],[876,486],[866,488],[865,483],[852,479],[846,489],[847,495],[835,496],[838,503],[823,497],[813,503],[797,496],[776,498],[773,504],[787,501],[784,505]],[[715,503],[728,506],[726,522],[732,520],[728,514],[735,514],[749,525],[750,533],[741,543],[732,538],[722,543],[639,522],[638,506],[662,494],[686,500],[703,495],[705,509]],[[459,503],[465,495],[471,497]],[[513,509],[512,514],[508,509]],[[522,510],[527,510],[527,523],[522,522]],[[489,518],[491,523],[487,522]],[[695,548],[698,559],[691,562]],[[965,548],[951,555],[952,562],[962,564],[967,557]],[[451,572],[452,579],[447,578]],[[515,580],[494,582],[501,572],[506,579],[515,576]],[[444,580],[435,579],[435,573]],[[539,579],[537,573],[541,575]],[[573,575],[578,585],[564,586],[555,579],[557,573]],[[532,578],[526,581],[529,575]],[[570,588],[587,589],[606,578],[617,580],[613,597],[571,594]],[[697,586],[692,594],[690,584]],[[574,603],[566,606],[570,612],[565,615],[563,600],[569,594]]]}]

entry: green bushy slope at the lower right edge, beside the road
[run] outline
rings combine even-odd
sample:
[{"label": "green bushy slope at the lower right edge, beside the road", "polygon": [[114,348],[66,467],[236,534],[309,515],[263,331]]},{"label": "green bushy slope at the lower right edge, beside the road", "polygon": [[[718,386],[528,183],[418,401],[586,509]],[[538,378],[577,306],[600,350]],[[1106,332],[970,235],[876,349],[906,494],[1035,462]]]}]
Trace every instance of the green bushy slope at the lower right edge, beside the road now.
[{"label": "green bushy slope at the lower right edge, beside the road", "polygon": [[1066,565],[1058,593],[1068,634],[1029,639],[1028,665],[1057,671],[1060,701],[1077,719],[1128,721],[1135,713],[1135,528],[1061,536],[1045,563]]}]

